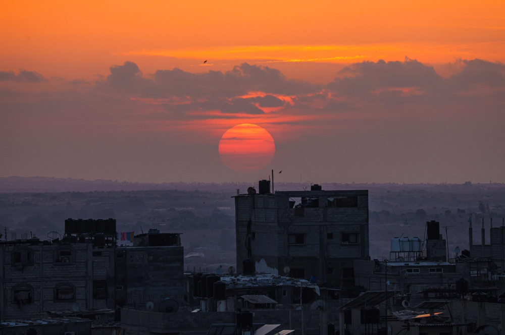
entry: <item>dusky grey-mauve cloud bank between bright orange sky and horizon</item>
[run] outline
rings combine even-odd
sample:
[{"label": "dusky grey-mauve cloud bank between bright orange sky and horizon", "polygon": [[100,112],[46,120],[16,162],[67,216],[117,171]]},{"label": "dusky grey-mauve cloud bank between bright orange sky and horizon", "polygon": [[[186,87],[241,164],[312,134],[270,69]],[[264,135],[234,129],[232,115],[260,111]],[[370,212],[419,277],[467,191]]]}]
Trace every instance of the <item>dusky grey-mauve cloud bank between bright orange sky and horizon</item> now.
[{"label": "dusky grey-mauve cloud bank between bright orange sky and horizon", "polygon": [[[462,181],[471,176],[505,181],[505,66],[471,60],[461,61],[459,68],[460,72],[444,78],[415,60],[363,62],[344,68],[327,85],[291,80],[278,70],[245,63],[225,73],[173,69],[142,74],[136,64],[126,62],[111,67],[107,78],[91,83],[56,83],[24,70],[18,74],[0,72],[0,138],[12,162],[0,165],[0,174],[22,175],[16,171],[25,171],[28,176],[149,182],[201,180],[191,176],[205,176],[205,181],[214,181],[214,177],[225,181],[230,176],[229,171],[222,172],[226,168],[215,149],[219,138],[191,146],[187,138],[181,139],[181,134],[191,130],[160,131],[155,126],[245,114],[285,116],[273,126],[284,130],[295,127],[296,135],[285,142],[277,141],[279,133],[273,133],[277,142],[274,163],[292,166],[296,170],[290,177],[293,179],[299,180],[299,173],[310,171],[305,173],[325,181],[422,182],[432,176],[438,179],[426,181],[441,182],[447,176],[459,176]],[[9,82],[58,84],[60,88],[17,90]],[[268,115],[266,107],[273,108]],[[209,110],[220,113],[206,114]],[[300,116],[307,118],[294,118]],[[153,135],[156,131],[163,135]],[[131,136],[135,132],[143,135]],[[201,138],[197,133],[191,136]],[[105,170],[86,159],[115,157],[109,144],[114,141],[121,143],[114,144],[114,150],[121,152],[121,163],[109,170],[104,167],[107,171],[102,174]],[[56,153],[62,152],[57,147],[70,146],[68,143],[73,143],[67,148],[69,155],[86,162],[83,166],[76,163],[77,167],[65,163],[64,168],[55,170],[64,159]],[[108,145],[109,151],[102,148]],[[47,155],[30,170],[31,158],[23,152],[38,146],[43,148],[35,154]],[[85,153],[77,156],[79,150]],[[169,162],[169,158],[160,157],[160,150],[179,160]],[[56,158],[47,158],[51,155]],[[318,159],[317,165],[312,164],[314,159]],[[87,164],[91,168],[85,168]],[[130,169],[129,165],[135,167]],[[45,170],[34,172],[40,166]],[[136,179],[144,170],[147,172]],[[87,175],[87,171],[94,172]]]}]

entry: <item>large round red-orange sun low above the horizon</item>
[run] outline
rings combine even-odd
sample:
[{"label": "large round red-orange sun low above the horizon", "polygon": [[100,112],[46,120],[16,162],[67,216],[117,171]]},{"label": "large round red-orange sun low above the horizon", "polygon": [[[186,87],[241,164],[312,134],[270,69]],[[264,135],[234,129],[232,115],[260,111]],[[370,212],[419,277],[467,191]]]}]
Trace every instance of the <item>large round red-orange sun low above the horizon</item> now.
[{"label": "large round red-orange sun low above the horizon", "polygon": [[275,142],[266,129],[244,123],[224,133],[219,141],[219,155],[231,170],[255,172],[272,161]]}]

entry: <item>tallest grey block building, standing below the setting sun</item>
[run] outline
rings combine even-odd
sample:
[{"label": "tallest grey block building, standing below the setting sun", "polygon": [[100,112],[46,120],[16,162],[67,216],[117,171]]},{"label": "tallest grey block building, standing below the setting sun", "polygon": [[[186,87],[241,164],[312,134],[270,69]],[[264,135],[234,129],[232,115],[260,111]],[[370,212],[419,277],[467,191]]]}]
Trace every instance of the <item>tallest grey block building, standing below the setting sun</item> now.
[{"label": "tallest grey block building, standing below the setting sun", "polygon": [[237,271],[250,258],[258,273],[354,286],[353,261],[369,259],[368,191],[272,194],[265,183],[235,196]]}]

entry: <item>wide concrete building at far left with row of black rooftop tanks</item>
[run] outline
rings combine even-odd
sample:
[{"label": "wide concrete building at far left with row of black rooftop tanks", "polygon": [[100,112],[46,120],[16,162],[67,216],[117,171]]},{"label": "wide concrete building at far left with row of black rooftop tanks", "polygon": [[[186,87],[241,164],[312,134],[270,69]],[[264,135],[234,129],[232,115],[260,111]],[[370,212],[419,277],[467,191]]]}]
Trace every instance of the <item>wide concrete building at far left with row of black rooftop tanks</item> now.
[{"label": "wide concrete building at far left with row of black rooftop tanks", "polygon": [[0,243],[3,320],[48,310],[115,309],[164,297],[183,299],[179,234],[150,232],[136,238],[158,241],[151,243],[156,246],[116,247],[113,219],[69,219],[65,230],[61,240]]}]

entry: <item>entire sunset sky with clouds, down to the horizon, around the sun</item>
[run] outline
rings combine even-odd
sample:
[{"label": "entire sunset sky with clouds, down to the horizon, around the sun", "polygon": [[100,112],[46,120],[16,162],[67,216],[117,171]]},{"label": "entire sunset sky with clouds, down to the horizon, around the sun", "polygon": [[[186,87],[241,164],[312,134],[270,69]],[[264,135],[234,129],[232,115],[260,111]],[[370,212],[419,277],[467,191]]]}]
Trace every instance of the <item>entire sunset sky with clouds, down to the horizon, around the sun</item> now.
[{"label": "entire sunset sky with clouds, down to the horizon, around the sun", "polygon": [[505,182],[503,1],[0,7],[0,177]]}]

